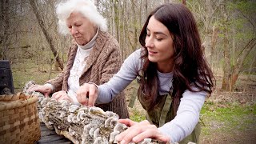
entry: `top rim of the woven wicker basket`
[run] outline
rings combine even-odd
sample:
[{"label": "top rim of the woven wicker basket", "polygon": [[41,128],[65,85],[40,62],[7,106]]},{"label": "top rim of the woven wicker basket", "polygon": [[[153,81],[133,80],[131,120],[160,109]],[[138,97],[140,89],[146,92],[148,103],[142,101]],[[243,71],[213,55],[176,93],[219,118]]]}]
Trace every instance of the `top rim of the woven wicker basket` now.
[{"label": "top rim of the woven wicker basket", "polygon": [[38,102],[38,97],[36,95],[25,95],[23,93],[0,95],[0,111],[30,105],[34,102]]}]

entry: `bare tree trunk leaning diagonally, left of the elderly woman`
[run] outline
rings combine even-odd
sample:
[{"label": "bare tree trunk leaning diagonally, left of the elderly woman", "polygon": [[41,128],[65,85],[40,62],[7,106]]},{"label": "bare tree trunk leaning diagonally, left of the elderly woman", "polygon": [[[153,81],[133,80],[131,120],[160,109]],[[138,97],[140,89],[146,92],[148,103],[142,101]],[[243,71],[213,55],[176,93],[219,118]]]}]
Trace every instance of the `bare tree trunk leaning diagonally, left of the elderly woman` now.
[{"label": "bare tree trunk leaning diagonally, left of the elderly woman", "polygon": [[50,45],[50,50],[52,51],[52,53],[54,54],[54,58],[56,58],[56,62],[58,62],[58,66],[63,70],[63,62],[62,60],[59,58],[58,56],[58,52],[57,50],[55,50],[54,48],[54,42],[53,42],[53,39],[50,37],[50,34],[47,32],[46,30],[46,26],[44,24],[44,22],[42,21],[42,18],[39,14],[39,10],[38,10],[38,6],[36,4],[36,2],[34,0],[30,0],[30,5],[32,7],[32,10],[34,11],[34,14],[38,20],[38,24],[39,26],[41,27],[42,29],[42,33],[45,35],[46,37],[46,41],[49,43]]}]

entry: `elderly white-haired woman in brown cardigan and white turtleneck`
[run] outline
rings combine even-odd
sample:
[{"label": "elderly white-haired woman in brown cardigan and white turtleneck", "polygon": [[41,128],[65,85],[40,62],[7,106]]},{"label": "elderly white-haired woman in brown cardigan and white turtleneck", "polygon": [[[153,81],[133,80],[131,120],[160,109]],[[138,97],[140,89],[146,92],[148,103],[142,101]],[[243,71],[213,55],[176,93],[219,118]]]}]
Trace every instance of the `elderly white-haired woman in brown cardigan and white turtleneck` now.
[{"label": "elderly white-haired woman in brown cardigan and white turtleneck", "polygon": [[[80,104],[76,98],[79,86],[86,82],[103,84],[118,72],[121,66],[119,45],[106,32],[106,19],[98,13],[92,1],[62,2],[58,4],[56,12],[60,32],[70,33],[74,38],[66,68],[45,85],[31,86],[29,91],[39,91],[46,97],[54,93],[52,96],[58,101],[66,99]],[[124,94],[119,94],[113,102],[95,106],[113,111],[120,118],[129,118]]]}]

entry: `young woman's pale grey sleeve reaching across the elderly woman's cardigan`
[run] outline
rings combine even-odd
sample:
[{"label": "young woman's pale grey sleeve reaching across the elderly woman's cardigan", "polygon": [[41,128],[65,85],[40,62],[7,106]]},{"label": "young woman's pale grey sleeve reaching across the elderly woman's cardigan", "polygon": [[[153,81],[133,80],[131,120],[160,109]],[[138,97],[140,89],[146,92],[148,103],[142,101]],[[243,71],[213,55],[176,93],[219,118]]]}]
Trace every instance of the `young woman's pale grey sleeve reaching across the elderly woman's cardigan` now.
[{"label": "young woman's pale grey sleeve reaching across the elderly woman's cardigan", "polygon": [[114,74],[113,78],[110,78],[109,82],[98,86],[98,99],[96,103],[107,103],[113,100],[114,96],[119,94],[132,82],[136,76],[139,68],[138,63],[140,61],[140,50],[134,51],[126,58],[122,64],[121,69],[117,74]]}]

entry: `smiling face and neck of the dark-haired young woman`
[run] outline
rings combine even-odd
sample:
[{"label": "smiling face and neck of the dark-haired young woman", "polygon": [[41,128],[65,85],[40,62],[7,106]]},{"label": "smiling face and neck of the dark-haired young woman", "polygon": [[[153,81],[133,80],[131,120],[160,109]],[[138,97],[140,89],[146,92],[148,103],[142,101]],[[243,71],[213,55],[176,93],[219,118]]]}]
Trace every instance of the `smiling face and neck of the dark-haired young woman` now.
[{"label": "smiling face and neck of the dark-haired young woman", "polygon": [[156,20],[154,15],[146,28],[145,43],[150,62],[156,62],[158,70],[170,72],[174,63],[173,38],[167,27]]}]

